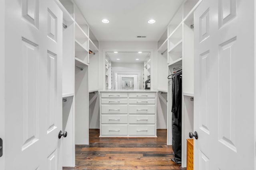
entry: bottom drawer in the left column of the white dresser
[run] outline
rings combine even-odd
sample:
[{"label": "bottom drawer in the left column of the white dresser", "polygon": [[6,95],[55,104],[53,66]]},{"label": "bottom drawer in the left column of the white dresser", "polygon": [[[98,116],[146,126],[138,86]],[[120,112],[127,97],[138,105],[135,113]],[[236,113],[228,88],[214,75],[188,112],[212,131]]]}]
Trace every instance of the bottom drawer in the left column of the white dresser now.
[{"label": "bottom drawer in the left column of the white dresser", "polygon": [[101,125],[101,135],[127,135],[127,125]]}]

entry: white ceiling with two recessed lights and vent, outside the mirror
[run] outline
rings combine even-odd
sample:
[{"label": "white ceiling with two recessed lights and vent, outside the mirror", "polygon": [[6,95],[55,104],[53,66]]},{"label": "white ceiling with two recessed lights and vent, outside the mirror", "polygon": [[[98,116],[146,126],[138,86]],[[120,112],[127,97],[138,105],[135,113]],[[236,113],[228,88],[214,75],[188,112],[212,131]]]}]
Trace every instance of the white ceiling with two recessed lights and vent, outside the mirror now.
[{"label": "white ceiling with two recessed lights and vent, outside the mirror", "polygon": [[[98,41],[158,41],[183,0],[74,0]],[[102,19],[110,23],[102,23]],[[150,24],[148,20],[154,19]],[[147,36],[137,38],[137,36]]]}]

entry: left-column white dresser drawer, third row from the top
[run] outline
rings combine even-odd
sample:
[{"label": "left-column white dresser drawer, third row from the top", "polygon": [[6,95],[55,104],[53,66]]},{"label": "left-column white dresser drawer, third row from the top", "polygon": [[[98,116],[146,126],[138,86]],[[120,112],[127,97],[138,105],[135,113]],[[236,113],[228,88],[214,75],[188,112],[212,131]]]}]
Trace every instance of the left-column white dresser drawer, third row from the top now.
[{"label": "left-column white dresser drawer, third row from the top", "polygon": [[126,105],[102,104],[101,113],[127,113]]}]

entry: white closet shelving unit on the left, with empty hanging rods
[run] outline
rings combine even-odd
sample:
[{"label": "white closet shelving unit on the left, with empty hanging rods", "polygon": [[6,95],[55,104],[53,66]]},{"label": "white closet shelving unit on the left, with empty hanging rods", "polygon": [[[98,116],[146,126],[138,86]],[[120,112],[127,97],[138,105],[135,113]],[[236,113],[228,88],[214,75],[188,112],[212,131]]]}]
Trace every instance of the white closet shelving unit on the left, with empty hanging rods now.
[{"label": "white closet shelving unit on the left, with empty hanging rods", "polygon": [[[98,70],[98,41],[73,0],[56,0],[56,3],[63,12],[62,109],[63,130],[68,132],[63,165],[74,166],[75,144],[89,144],[89,88],[98,90],[98,76],[89,78],[89,64],[94,57],[92,69]],[[97,85],[89,84],[89,80]]]}]

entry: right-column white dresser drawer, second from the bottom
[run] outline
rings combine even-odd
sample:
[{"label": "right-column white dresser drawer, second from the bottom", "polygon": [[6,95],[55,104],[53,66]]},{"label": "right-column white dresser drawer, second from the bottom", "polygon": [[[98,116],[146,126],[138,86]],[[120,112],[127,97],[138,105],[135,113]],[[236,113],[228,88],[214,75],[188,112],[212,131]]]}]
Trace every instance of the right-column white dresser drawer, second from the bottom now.
[{"label": "right-column white dresser drawer, second from the bottom", "polygon": [[129,123],[131,124],[154,124],[155,115],[129,115]]}]

